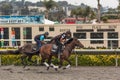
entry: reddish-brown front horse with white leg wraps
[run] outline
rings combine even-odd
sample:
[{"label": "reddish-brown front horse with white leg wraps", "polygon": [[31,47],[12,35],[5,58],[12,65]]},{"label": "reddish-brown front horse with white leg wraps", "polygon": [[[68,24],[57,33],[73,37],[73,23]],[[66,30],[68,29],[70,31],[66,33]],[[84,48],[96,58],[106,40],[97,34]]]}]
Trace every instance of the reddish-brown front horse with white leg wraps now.
[{"label": "reddish-brown front horse with white leg wraps", "polygon": [[[52,56],[55,56],[58,58],[58,54],[57,53],[53,53],[52,50],[52,46],[54,44],[46,44],[43,45],[40,48],[40,55],[42,57],[42,63],[45,64],[47,66],[47,69],[49,69],[50,66],[53,66],[55,69],[58,68],[58,66],[55,66],[54,64],[51,63],[51,59]],[[71,62],[69,60],[69,57],[72,53],[72,50],[75,48],[75,46],[79,46],[80,48],[83,48],[83,44],[77,39],[77,38],[71,38],[69,39],[66,44],[65,44],[65,48],[63,49],[62,54],[60,55],[60,64],[59,64],[59,68],[62,66],[63,61],[66,60],[69,64],[64,68],[69,68],[71,65]],[[48,63],[45,62],[45,60],[48,59]]]}]

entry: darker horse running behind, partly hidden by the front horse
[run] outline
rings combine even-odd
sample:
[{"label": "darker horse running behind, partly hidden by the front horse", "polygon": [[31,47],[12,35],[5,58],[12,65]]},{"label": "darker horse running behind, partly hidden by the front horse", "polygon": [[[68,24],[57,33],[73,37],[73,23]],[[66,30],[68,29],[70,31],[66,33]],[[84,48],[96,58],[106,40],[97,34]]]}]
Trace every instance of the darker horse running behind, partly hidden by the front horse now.
[{"label": "darker horse running behind, partly hidden by the front horse", "polygon": [[[44,44],[45,43],[42,42],[42,45]],[[33,50],[33,48],[36,48],[36,50]],[[6,51],[1,51],[0,53],[1,54],[14,54],[14,55],[21,54],[22,64],[24,65],[24,68],[25,68],[27,65],[27,62],[25,61],[25,59],[27,58],[29,62],[35,63],[31,59],[33,55],[39,55],[39,49],[37,48],[36,44],[27,43],[21,46],[20,48],[18,48],[17,50],[6,50]]]}]

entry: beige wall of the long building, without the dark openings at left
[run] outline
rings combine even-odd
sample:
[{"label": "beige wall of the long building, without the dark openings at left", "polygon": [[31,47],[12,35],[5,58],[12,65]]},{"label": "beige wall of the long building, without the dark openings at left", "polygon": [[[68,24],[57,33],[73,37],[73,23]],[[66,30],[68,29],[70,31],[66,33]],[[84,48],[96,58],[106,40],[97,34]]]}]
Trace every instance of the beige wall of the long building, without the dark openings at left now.
[{"label": "beige wall of the long building, without the dark openings at left", "polygon": [[[112,24],[55,24],[55,25],[44,25],[44,24],[2,24],[0,28],[8,28],[9,29],[9,46],[12,46],[11,42],[11,29],[12,28],[20,28],[20,46],[26,43],[26,40],[30,41],[31,39],[24,39],[24,28],[31,28],[32,43],[34,42],[34,36],[37,34],[43,34],[44,32],[49,32],[50,37],[54,37],[60,33],[63,33],[67,30],[72,32],[73,34],[78,34],[80,37],[80,41],[83,43],[85,47],[120,47],[120,24],[112,23]],[[108,36],[109,35],[109,36]],[[112,36],[112,37],[111,37]],[[28,36],[27,36],[28,37]],[[97,37],[97,38],[96,38]],[[112,40],[112,42],[108,41]],[[97,39],[96,41],[91,39]],[[99,40],[100,39],[100,40]],[[4,41],[7,39],[4,39]],[[19,41],[19,39],[16,39]],[[111,44],[110,44],[111,43]]]}]

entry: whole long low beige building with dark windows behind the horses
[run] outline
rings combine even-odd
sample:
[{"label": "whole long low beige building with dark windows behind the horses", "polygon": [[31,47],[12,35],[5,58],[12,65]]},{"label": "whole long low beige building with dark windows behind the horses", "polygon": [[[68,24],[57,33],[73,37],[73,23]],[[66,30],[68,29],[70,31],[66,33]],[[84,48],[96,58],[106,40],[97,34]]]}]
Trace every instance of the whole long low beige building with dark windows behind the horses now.
[{"label": "whole long low beige building with dark windows behind the horses", "polygon": [[[14,30],[15,32],[12,32]],[[25,43],[34,43],[34,36],[49,32],[50,37],[70,30],[73,37],[77,37],[85,47],[120,47],[120,24],[41,24],[27,23],[0,23],[1,46],[22,46]],[[14,39],[13,39],[14,36]]]}]

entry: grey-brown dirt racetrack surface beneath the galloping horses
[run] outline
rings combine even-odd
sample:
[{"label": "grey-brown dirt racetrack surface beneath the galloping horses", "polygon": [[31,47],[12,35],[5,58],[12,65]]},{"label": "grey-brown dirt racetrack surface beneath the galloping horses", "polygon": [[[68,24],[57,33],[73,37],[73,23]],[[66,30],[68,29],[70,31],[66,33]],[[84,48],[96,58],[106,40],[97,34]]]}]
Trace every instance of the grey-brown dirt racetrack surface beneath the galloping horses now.
[{"label": "grey-brown dirt racetrack surface beneath the galloping horses", "polygon": [[55,71],[45,66],[1,66],[0,80],[120,80],[120,67],[71,67]]}]

